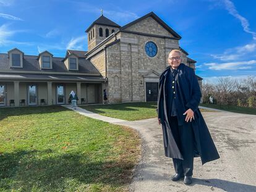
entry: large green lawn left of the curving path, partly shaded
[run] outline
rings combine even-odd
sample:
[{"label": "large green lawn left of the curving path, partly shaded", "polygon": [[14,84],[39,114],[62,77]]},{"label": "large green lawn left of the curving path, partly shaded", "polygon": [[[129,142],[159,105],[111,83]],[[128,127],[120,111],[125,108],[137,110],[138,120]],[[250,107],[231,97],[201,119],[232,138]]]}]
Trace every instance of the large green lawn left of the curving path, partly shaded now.
[{"label": "large green lawn left of the curving path, partly shaded", "polygon": [[127,191],[134,130],[61,106],[0,108],[0,191]]}]

